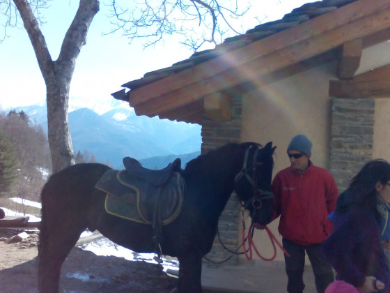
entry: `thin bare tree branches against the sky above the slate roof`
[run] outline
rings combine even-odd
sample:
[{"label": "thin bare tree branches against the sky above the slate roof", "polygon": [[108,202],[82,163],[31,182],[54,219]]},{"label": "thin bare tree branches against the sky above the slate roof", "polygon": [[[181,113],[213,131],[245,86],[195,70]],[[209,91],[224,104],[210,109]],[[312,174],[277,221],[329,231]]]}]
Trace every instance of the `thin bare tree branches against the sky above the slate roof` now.
[{"label": "thin bare tree branches against the sky above the slate roof", "polygon": [[[115,27],[108,33],[121,31],[130,43],[136,38],[143,39],[144,47],[164,40],[164,35],[176,33],[186,39],[182,44],[196,51],[205,43],[220,43],[221,36],[227,31],[235,34],[243,32],[242,28],[235,29],[231,20],[242,17],[249,6],[241,8],[243,5],[238,1],[224,1],[221,5],[222,1],[160,0],[157,3],[139,0],[130,8],[127,1],[111,0],[109,16]],[[198,22],[197,27],[192,25],[195,21]]]}]

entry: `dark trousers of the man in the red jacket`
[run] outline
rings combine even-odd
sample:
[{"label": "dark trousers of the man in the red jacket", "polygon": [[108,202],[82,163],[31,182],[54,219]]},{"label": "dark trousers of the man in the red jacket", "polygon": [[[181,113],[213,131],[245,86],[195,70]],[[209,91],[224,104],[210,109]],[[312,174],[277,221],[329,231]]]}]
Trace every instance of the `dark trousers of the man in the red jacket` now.
[{"label": "dark trousers of the man in the red jacket", "polygon": [[315,278],[315,288],[318,293],[324,293],[327,286],[334,281],[331,265],[322,255],[321,244],[299,245],[283,238],[283,248],[290,253],[290,257],[284,256],[286,261],[286,273],[288,277],[287,292],[302,293],[304,291],[304,262],[305,251],[311,262]]}]

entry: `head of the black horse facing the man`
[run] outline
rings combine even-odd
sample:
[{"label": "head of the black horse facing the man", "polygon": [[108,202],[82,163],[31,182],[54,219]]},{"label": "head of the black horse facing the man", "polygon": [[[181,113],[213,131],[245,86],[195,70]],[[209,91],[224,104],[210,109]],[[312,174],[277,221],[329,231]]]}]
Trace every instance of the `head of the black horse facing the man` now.
[{"label": "head of the black horse facing the man", "polygon": [[272,220],[274,195],[271,190],[276,147],[268,142],[244,144],[245,153],[242,170],[235,176],[235,192],[243,202],[242,207],[249,210],[254,223],[267,225]]}]

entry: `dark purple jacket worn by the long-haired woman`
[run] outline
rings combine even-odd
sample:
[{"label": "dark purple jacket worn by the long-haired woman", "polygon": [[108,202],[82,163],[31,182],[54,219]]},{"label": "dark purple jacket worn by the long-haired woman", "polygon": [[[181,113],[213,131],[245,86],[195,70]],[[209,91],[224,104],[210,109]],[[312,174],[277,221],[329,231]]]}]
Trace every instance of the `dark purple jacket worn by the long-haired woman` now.
[{"label": "dark purple jacket worn by the long-haired woman", "polygon": [[373,210],[351,206],[334,212],[334,232],[322,244],[322,251],[336,270],[336,280],[360,287],[366,276],[385,284],[389,292],[389,267]]}]

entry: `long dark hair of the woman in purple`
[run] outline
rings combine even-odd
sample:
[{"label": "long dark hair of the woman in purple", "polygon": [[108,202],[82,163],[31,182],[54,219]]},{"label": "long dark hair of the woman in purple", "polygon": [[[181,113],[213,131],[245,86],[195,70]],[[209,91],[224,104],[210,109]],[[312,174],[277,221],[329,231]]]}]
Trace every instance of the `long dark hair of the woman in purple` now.
[{"label": "long dark hair of the woman in purple", "polygon": [[382,184],[390,180],[390,164],[387,160],[370,160],[359,173],[354,176],[350,186],[342,193],[337,200],[337,210],[345,211],[348,206],[366,206],[376,210],[377,182]]}]

